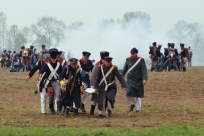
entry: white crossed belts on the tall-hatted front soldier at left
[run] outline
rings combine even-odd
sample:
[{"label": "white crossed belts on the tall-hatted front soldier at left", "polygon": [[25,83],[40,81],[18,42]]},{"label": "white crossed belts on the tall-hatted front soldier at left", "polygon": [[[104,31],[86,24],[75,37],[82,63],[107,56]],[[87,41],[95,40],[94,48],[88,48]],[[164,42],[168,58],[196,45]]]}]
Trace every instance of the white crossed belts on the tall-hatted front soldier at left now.
[{"label": "white crossed belts on the tall-hatted front soldier at left", "polygon": [[57,62],[57,66],[56,66],[55,69],[53,69],[53,67],[52,67],[52,65],[51,65],[50,63],[48,63],[47,66],[49,67],[51,73],[50,73],[50,75],[49,75],[47,81],[45,82],[45,88],[47,88],[47,86],[48,86],[50,80],[52,80],[53,76],[54,76],[55,79],[57,79],[57,77],[59,76],[59,75],[57,74],[57,70],[58,70],[58,68],[59,68],[59,66],[60,66],[60,63]]}]

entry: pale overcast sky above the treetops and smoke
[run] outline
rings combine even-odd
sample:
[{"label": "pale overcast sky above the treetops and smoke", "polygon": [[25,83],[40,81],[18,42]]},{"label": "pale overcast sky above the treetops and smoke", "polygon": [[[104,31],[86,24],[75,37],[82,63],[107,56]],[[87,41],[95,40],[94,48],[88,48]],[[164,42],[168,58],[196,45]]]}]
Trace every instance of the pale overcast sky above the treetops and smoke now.
[{"label": "pale overcast sky above the treetops and smoke", "polygon": [[0,0],[8,25],[30,26],[42,16],[90,23],[97,19],[121,19],[129,11],[151,16],[152,32],[165,34],[178,20],[204,24],[204,0]]}]

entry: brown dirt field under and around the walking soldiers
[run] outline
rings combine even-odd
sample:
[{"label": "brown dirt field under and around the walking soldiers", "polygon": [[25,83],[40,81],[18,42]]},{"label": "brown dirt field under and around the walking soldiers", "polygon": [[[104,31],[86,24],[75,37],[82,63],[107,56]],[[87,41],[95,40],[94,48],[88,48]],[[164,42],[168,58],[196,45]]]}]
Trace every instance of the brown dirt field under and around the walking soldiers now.
[{"label": "brown dirt field under and around the walking soldiers", "polygon": [[[87,113],[79,118],[61,115],[42,116],[40,95],[34,94],[37,76],[25,82],[27,72],[10,73],[0,69],[0,126],[35,127],[132,127],[153,128],[163,124],[183,123],[194,127],[204,125],[204,67],[187,68],[187,72],[149,72],[142,99],[142,111],[129,112],[125,92],[118,85],[113,116],[99,119],[97,110],[90,117],[90,98]],[[48,107],[48,106],[47,106]],[[49,109],[47,108],[49,113]]]}]

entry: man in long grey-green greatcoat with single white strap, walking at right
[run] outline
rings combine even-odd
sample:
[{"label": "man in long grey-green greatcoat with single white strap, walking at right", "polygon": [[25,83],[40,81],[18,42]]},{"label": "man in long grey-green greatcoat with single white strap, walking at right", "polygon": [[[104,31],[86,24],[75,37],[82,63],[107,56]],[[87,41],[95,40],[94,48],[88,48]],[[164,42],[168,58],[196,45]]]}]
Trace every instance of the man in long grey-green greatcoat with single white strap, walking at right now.
[{"label": "man in long grey-green greatcoat with single white strap, walking at right", "polygon": [[147,67],[145,60],[137,56],[138,50],[133,48],[131,56],[126,59],[123,77],[127,77],[126,96],[130,111],[136,106],[136,112],[141,111],[141,98],[144,97],[144,85],[147,82]]}]

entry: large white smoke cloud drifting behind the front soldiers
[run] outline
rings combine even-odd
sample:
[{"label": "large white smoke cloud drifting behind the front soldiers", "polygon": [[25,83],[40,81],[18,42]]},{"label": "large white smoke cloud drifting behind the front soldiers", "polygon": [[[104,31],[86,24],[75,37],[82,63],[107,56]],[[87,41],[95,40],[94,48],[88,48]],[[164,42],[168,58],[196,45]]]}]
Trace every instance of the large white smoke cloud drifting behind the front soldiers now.
[{"label": "large white smoke cloud drifting behind the front soldiers", "polygon": [[100,59],[100,51],[109,51],[113,64],[122,69],[133,47],[139,50],[138,56],[148,60],[149,43],[152,41],[151,32],[145,25],[144,20],[132,20],[126,24],[104,21],[84,24],[78,29],[68,30],[58,49],[65,51],[65,55],[70,50],[73,57],[78,59],[83,51],[88,51],[91,53],[90,59],[96,61]]}]

